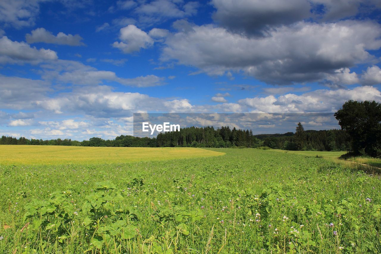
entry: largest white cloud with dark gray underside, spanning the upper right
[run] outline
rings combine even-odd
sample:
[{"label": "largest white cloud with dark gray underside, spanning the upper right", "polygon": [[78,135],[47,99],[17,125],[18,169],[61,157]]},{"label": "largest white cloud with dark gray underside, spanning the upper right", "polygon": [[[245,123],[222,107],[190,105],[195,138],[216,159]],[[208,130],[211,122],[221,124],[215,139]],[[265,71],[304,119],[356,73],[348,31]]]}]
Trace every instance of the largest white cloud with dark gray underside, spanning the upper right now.
[{"label": "largest white cloud with dark gray underside, spanning the upper right", "polygon": [[269,84],[323,79],[354,82],[349,70],[375,59],[368,50],[381,47],[381,26],[370,21],[299,22],[247,37],[213,25],[184,21],[165,41],[162,60],[177,60],[211,75],[243,71]]}]

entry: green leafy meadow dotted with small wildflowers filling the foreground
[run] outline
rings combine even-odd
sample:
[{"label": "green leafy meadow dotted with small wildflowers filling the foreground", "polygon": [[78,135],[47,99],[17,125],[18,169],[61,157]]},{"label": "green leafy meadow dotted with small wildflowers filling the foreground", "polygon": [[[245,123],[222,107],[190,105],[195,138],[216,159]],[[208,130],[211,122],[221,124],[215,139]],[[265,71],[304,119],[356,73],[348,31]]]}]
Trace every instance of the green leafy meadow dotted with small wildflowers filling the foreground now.
[{"label": "green leafy meadow dotted with small wildflowers filling the foreground", "polygon": [[378,175],[305,154],[201,151],[225,154],[52,165],[8,158],[0,252],[381,252]]}]

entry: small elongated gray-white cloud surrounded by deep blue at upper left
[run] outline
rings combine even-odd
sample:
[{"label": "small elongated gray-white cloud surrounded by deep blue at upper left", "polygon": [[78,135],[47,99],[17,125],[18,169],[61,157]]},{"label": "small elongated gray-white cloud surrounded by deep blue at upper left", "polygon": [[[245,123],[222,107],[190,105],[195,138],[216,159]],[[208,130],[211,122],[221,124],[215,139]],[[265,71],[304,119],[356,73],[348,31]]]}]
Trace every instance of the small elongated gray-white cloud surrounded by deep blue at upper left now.
[{"label": "small elongated gray-white cloud surrounded by deep blue at upper left", "polygon": [[69,46],[85,45],[82,42],[83,38],[79,34],[72,35],[59,32],[57,35],[53,35],[51,32],[46,31],[45,28],[35,29],[32,34],[26,34],[25,38],[28,43],[45,42]]}]

